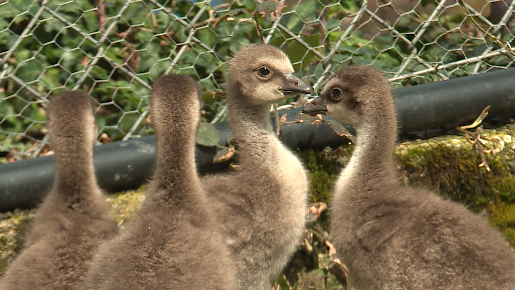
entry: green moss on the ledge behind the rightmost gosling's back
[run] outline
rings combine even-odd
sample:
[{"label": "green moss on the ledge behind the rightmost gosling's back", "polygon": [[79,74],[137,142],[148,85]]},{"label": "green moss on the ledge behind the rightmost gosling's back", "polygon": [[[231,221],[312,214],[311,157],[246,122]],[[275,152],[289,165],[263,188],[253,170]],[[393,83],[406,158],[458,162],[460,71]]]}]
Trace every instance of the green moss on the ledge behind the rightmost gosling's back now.
[{"label": "green moss on the ledge behind the rightmost gosling's back", "polygon": [[[486,144],[493,152],[495,142]],[[452,200],[467,203],[478,212],[498,198],[513,202],[515,180],[506,158],[512,149],[486,154],[491,172],[478,167],[481,157],[464,137],[436,138],[400,144],[396,154],[410,184],[423,185]]]}]

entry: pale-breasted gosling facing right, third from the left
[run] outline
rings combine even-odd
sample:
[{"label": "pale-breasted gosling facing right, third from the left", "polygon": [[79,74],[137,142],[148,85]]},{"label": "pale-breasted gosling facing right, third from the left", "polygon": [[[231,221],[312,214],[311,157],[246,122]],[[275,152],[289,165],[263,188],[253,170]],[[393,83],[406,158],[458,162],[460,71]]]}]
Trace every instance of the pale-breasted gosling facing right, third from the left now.
[{"label": "pale-breasted gosling facing right, third from the left", "polygon": [[224,226],[242,290],[269,290],[304,228],[306,172],[270,124],[272,103],[313,92],[293,73],[286,54],[270,45],[244,47],[229,65],[227,112],[241,163],[202,184]]}]

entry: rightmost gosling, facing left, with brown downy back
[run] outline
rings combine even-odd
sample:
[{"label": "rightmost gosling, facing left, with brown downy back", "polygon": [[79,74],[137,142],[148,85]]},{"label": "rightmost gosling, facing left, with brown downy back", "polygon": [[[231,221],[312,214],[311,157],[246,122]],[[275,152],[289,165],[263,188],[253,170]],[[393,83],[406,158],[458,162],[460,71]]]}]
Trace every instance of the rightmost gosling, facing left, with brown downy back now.
[{"label": "rightmost gosling, facing left, with brown downy back", "polygon": [[356,130],[334,188],[331,230],[358,289],[515,289],[515,255],[499,232],[461,204],[398,182],[397,122],[381,73],[341,70],[304,112]]}]

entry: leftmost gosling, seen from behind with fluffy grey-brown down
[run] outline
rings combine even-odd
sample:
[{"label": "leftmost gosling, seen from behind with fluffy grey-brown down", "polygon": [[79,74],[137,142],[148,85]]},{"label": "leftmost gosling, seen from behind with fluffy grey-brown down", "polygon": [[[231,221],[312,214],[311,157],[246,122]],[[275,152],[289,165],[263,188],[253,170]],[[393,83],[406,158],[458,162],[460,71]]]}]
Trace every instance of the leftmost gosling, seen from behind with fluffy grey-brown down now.
[{"label": "leftmost gosling, seen from behind with fluffy grey-brown down", "polygon": [[47,116],[54,186],[36,213],[23,251],[0,280],[3,290],[77,289],[98,246],[117,232],[95,178],[97,128],[90,96],[57,95],[50,99]]}]

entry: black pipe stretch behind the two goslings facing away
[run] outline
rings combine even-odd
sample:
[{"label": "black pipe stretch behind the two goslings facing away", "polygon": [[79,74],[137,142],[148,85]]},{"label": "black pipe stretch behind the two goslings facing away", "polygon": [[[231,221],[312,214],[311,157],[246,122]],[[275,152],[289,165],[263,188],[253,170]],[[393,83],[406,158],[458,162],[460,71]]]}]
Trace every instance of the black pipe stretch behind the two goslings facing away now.
[{"label": "black pipe stretch behind the two goslings facing away", "polygon": [[[227,140],[231,132],[229,125],[219,123],[215,127],[220,140]],[[195,155],[200,173],[227,167],[228,163],[213,164],[215,153],[214,147],[197,146]],[[155,135],[96,146],[94,164],[98,183],[110,192],[137,188],[152,175],[155,159]],[[0,165],[0,212],[37,205],[53,182],[54,156]]]}]

